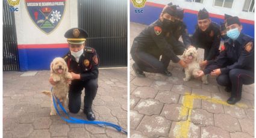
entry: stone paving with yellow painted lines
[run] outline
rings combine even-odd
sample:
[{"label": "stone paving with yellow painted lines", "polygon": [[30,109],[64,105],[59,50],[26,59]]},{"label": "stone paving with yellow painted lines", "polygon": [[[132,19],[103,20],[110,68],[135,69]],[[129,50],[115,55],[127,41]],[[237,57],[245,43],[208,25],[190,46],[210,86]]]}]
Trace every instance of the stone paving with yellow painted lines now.
[{"label": "stone paving with yellow painted lines", "polygon": [[[130,23],[130,47],[144,28]],[[130,59],[130,67],[133,63]],[[168,69],[172,77],[146,73],[140,78],[130,68],[131,137],[254,137],[254,85],[244,85],[242,100],[230,106],[230,94],[214,77],[208,77],[208,85],[184,82],[178,64]]]}]

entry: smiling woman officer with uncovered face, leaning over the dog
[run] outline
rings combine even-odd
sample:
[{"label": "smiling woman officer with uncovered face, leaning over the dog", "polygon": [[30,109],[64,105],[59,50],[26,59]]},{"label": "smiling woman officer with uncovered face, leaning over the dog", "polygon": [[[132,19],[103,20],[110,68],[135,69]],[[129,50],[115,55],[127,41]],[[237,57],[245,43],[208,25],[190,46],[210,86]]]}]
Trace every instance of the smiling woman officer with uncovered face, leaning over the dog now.
[{"label": "smiling woman officer with uncovered face, leaning over the dog", "polygon": [[192,37],[192,45],[204,49],[204,61],[200,63],[201,67],[205,67],[219,55],[220,27],[217,23],[211,22],[205,8],[198,12],[198,25]]}]

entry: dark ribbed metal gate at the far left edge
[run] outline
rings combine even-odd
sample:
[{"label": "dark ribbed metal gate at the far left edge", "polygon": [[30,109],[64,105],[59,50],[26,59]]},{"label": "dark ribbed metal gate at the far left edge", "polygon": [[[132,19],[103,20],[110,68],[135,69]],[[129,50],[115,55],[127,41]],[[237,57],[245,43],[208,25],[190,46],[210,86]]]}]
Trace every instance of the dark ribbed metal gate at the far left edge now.
[{"label": "dark ribbed metal gate at the far left edge", "polygon": [[3,1],[3,70],[19,70],[19,56],[17,52],[17,36],[14,13],[10,11],[10,5]]}]

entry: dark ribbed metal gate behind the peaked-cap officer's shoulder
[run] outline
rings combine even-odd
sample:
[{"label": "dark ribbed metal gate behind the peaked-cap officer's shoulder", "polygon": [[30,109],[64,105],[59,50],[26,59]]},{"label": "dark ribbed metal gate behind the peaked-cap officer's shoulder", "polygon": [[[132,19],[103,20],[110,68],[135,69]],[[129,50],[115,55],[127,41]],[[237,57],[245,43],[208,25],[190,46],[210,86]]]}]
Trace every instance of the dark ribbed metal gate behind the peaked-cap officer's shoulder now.
[{"label": "dark ribbed metal gate behind the peaked-cap officer's shoulder", "polygon": [[78,0],[78,26],[89,33],[101,67],[127,65],[127,1]]}]

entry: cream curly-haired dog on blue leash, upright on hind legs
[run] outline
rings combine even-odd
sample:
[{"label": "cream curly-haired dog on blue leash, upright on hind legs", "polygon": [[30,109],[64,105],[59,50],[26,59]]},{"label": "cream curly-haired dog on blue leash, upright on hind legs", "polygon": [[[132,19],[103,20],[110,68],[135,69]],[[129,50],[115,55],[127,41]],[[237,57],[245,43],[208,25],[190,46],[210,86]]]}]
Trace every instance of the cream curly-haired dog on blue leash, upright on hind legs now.
[{"label": "cream curly-haired dog on blue leash, upright on hind legs", "polygon": [[[64,103],[67,98],[67,93],[69,91],[68,79],[72,79],[72,75],[68,72],[67,64],[63,58],[55,58],[51,62],[51,77],[54,82],[57,82],[56,85],[52,86],[52,92],[60,100],[61,104],[64,107]],[[51,97],[51,113],[50,115],[56,115],[56,110],[54,109],[54,104],[52,102],[52,94],[50,91],[43,91],[43,94],[46,94]]]}]

